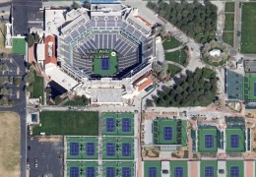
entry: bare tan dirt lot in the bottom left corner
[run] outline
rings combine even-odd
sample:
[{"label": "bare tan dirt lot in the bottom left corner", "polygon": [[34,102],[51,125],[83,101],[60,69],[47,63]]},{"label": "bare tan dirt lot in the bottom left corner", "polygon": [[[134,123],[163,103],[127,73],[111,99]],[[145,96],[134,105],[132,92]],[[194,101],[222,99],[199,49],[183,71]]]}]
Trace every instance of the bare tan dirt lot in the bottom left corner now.
[{"label": "bare tan dirt lot in the bottom left corner", "polygon": [[0,174],[20,176],[20,118],[13,112],[0,112]]}]

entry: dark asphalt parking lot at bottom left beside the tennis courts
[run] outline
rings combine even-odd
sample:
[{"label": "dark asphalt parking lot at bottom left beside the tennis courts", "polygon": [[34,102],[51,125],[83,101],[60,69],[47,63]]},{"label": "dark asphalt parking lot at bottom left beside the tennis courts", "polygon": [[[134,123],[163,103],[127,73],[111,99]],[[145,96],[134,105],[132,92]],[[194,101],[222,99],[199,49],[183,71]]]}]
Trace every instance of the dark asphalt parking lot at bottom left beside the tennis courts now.
[{"label": "dark asphalt parking lot at bottom left beside the tennis courts", "polygon": [[63,176],[63,137],[28,140],[27,169],[30,176]]}]

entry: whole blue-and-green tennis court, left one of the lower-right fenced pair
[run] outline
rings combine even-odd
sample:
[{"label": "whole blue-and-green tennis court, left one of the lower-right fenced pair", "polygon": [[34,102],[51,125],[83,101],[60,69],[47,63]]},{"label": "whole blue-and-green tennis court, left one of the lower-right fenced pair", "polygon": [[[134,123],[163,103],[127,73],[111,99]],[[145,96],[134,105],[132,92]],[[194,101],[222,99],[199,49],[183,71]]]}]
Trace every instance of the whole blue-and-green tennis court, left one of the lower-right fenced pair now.
[{"label": "whole blue-and-green tennis court, left one of the lower-right fenced pair", "polygon": [[198,129],[198,150],[201,152],[216,152],[217,145],[217,129],[216,128],[200,128]]}]

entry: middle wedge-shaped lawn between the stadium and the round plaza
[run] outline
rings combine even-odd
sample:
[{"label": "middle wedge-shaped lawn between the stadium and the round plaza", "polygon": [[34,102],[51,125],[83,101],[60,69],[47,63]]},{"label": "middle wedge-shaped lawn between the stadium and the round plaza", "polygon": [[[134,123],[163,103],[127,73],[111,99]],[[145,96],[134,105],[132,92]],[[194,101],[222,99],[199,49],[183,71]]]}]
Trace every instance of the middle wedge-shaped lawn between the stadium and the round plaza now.
[{"label": "middle wedge-shaped lawn between the stadium and the round plaza", "polygon": [[187,65],[187,53],[184,48],[171,52],[165,53],[165,60],[179,63],[183,66]]}]

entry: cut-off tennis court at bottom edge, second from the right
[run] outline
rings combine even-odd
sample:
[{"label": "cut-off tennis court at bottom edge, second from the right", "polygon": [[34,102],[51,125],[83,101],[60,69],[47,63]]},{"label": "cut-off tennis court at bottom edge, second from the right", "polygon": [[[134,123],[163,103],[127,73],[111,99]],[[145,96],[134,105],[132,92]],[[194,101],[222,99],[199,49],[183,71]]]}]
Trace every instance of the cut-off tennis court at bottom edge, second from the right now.
[{"label": "cut-off tennis court at bottom edge, second from the right", "polygon": [[202,160],[200,161],[200,174],[205,177],[218,176],[218,161]]}]

